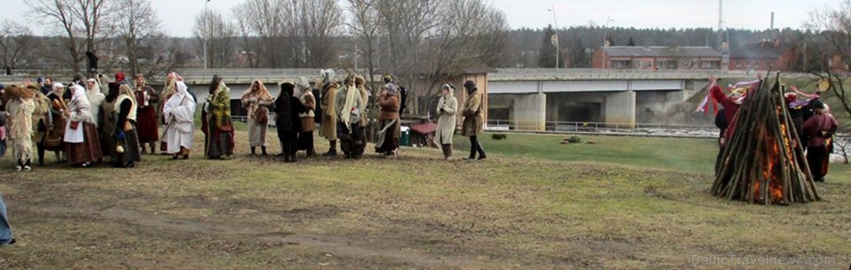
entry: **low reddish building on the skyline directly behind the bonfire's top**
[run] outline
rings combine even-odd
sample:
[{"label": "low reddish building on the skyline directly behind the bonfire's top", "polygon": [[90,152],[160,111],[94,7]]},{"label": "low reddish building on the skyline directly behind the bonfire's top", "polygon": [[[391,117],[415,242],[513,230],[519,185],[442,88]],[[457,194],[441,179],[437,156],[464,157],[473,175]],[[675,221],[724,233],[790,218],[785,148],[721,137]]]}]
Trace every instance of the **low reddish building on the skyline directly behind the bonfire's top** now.
[{"label": "low reddish building on the skyline directly behind the bonfire's top", "polygon": [[730,52],[729,70],[792,70],[797,57],[795,46],[789,42],[745,43]]}]

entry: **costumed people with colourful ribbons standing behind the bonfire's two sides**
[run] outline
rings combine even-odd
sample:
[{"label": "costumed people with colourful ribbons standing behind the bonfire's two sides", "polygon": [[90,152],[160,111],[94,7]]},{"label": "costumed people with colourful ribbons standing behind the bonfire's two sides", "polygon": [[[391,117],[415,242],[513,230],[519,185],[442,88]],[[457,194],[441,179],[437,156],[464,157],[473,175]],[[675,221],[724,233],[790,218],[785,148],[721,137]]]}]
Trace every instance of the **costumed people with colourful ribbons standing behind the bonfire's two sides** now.
[{"label": "costumed people with colourful ribbons standing behind the bonfire's two sides", "polygon": [[[762,85],[762,76],[759,76],[756,81],[729,85],[727,87],[728,93],[724,93],[722,87],[718,85],[716,77],[711,77],[710,82],[709,93],[699,105],[698,110],[708,112],[710,102],[720,104],[722,107],[715,111],[715,125],[721,130],[718,137],[718,155],[715,161],[715,172],[717,173],[721,171],[720,166],[722,166],[724,149],[734,134],[735,116],[739,112],[739,107],[748,93],[756,91]],[[819,88],[826,89],[826,87]],[[793,143],[796,143],[796,145],[801,143],[806,153],[810,174],[814,180],[825,182],[825,175],[830,165],[830,155],[833,152],[833,135],[839,124],[836,118],[831,115],[830,108],[821,100],[822,91],[817,90],[815,93],[809,94],[802,93],[797,87],[788,87],[787,90],[791,91],[785,93],[784,101],[798,138]]]}]

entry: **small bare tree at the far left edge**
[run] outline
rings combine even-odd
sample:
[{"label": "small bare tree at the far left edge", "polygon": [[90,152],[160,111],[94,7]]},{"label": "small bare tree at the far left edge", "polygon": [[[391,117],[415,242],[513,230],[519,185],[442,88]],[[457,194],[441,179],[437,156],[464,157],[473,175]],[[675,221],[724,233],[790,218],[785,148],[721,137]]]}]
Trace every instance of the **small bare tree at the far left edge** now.
[{"label": "small bare tree at the far left edge", "polygon": [[[31,53],[30,48],[35,42],[32,31],[26,25],[20,25],[11,20],[0,24],[0,50],[3,50],[3,67],[11,69],[26,65],[26,57]],[[22,63],[23,62],[23,63]]]}]

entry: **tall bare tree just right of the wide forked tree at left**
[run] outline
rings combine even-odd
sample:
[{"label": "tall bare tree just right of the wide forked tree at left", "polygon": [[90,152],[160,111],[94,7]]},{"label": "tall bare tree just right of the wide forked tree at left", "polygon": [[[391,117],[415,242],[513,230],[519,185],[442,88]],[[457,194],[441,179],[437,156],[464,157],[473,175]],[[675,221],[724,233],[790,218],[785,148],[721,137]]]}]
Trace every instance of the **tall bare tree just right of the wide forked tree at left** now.
[{"label": "tall bare tree just right of the wide forked tree at left", "polygon": [[166,36],[151,0],[118,0],[117,36],[123,41],[126,70],[156,78],[172,67],[174,54],[163,51]]}]

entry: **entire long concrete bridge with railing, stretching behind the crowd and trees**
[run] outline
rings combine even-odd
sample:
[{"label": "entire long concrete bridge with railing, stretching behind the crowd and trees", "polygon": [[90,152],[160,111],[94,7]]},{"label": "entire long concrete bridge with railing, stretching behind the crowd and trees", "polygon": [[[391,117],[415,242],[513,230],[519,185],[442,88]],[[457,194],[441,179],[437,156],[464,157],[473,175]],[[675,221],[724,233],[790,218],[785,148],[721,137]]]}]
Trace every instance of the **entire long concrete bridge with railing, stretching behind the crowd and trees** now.
[{"label": "entire long concrete bridge with railing, stretching behind the crowd and trees", "polygon": [[[231,87],[234,99],[238,99],[254,80],[265,82],[270,92],[277,96],[278,82],[293,82],[299,76],[306,76],[313,82],[319,78],[318,71],[177,70],[198,98],[207,97],[209,82],[218,74]],[[358,71],[366,74],[366,70]],[[0,76],[0,82],[21,82],[35,76],[38,75]],[[499,69],[489,73],[488,83],[480,87],[488,93],[489,119],[511,121],[526,130],[543,130],[547,121],[634,125],[637,121],[645,121],[642,115],[665,112],[671,106],[682,104],[707,85],[709,76],[749,78],[755,75],[722,70]],[[783,76],[808,75],[785,73]],[[63,80],[64,76],[54,76],[54,79],[68,81]],[[70,80],[70,76],[67,79]]]}]

